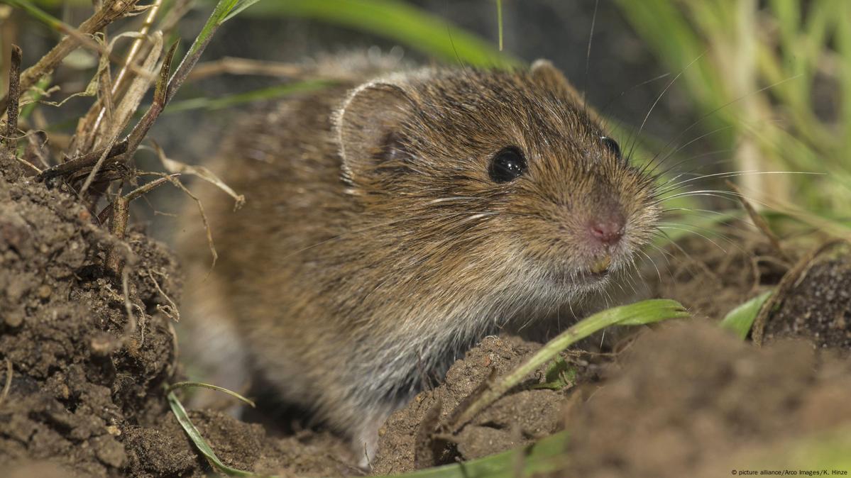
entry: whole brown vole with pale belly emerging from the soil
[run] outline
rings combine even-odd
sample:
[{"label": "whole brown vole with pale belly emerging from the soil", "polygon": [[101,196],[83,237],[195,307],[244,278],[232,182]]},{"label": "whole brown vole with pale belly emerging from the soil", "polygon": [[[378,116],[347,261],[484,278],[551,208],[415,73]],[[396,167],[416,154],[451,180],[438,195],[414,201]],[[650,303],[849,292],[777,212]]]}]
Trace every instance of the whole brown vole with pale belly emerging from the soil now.
[{"label": "whole brown vole with pale belly emerging from the soil", "polygon": [[246,202],[203,196],[219,262],[205,279],[190,231],[188,340],[219,384],[259,374],[362,456],[424,373],[604,297],[660,216],[654,178],[545,60],[338,83],[249,115],[221,151]]}]

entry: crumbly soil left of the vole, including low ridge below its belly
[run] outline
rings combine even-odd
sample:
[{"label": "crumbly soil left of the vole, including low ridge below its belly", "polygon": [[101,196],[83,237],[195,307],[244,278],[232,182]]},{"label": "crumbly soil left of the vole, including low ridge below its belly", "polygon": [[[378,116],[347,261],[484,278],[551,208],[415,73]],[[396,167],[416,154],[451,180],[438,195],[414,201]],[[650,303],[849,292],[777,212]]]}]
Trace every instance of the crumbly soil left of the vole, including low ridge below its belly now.
[{"label": "crumbly soil left of the vole, including low ridge below its belly", "polygon": [[[123,247],[62,187],[0,176],[0,463],[27,476],[206,476],[163,387],[174,381],[171,325],[180,275],[163,245],[141,232],[129,322],[106,250]],[[3,382],[0,382],[3,383]],[[273,473],[352,475],[346,446],[327,433],[283,439],[214,412],[191,418],[226,464]],[[336,458],[343,457],[343,458]],[[348,457],[350,461],[353,458]]]}]

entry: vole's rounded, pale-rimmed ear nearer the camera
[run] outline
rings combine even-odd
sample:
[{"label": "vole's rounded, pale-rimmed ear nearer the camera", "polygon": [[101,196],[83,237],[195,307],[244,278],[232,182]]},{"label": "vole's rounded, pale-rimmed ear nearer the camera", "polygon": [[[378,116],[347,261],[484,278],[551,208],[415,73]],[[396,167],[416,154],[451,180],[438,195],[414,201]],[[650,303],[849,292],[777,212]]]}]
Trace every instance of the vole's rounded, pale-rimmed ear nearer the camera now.
[{"label": "vole's rounded, pale-rimmed ear nearer the camera", "polygon": [[391,83],[367,83],[337,112],[335,128],[347,179],[396,168],[403,156],[399,129],[414,102]]}]

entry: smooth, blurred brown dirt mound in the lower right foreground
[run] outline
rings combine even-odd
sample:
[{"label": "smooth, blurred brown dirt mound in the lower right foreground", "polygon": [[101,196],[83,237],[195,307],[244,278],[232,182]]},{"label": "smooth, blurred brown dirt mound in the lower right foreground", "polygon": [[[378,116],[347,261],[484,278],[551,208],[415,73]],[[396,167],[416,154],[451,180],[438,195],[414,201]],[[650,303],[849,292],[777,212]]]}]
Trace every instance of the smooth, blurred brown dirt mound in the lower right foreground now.
[{"label": "smooth, blurred brown dirt mound in the lower right foreground", "polygon": [[848,361],[804,341],[757,350],[713,325],[665,328],[567,418],[570,475],[730,475],[748,465],[733,452],[851,423]]}]

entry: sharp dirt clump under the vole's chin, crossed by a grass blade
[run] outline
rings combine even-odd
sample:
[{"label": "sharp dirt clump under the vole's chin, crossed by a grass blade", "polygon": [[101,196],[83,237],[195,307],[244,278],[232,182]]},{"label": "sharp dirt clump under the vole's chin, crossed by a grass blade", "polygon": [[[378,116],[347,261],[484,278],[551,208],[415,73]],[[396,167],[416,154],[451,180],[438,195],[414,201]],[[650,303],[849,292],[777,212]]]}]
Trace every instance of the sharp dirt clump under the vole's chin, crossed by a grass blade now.
[{"label": "sharp dirt clump under the vole's chin, crossed by a grass blade", "polygon": [[[379,453],[373,464],[375,475],[403,473],[456,460],[480,458],[491,453],[527,445],[561,428],[565,397],[578,384],[597,379],[602,356],[563,354],[572,371],[568,385],[561,390],[530,389],[544,381],[539,369],[513,393],[503,396],[480,413],[456,435],[443,440],[424,439],[420,430],[446,423],[456,407],[475,396],[488,377],[499,378],[511,372],[540,344],[517,337],[488,337],[467,352],[464,359],[449,368],[443,383],[414,397],[408,407],[393,413],[379,431]],[[431,416],[439,402],[439,414]]]}]

